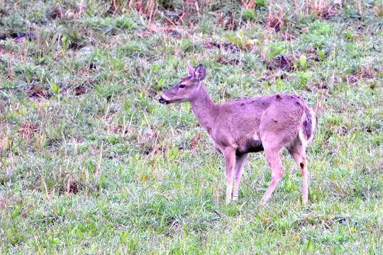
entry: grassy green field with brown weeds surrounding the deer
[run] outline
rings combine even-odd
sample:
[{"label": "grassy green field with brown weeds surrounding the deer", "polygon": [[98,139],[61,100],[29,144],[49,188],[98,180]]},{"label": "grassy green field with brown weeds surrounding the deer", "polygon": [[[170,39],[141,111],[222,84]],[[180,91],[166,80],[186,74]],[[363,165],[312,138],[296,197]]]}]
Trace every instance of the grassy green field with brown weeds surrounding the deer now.
[{"label": "grassy green field with brown weeds surrounding the deer", "polygon": [[[383,254],[383,2],[0,1],[0,254]],[[318,114],[309,203],[223,156],[162,91],[299,94]]]}]

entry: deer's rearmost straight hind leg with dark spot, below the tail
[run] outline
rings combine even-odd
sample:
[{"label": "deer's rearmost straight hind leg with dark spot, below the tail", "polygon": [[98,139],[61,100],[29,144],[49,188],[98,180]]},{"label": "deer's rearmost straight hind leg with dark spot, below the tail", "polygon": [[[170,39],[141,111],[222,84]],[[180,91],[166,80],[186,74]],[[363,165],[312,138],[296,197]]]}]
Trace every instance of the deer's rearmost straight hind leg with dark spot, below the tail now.
[{"label": "deer's rearmost straight hind leg with dark spot, below the tail", "polygon": [[307,165],[306,165],[306,159],[304,157],[305,155],[305,146],[301,142],[300,138],[298,137],[293,145],[291,145],[289,148],[289,153],[294,158],[296,164],[299,166],[299,170],[301,170],[302,175],[302,202],[307,203],[309,200],[309,187],[307,184]]}]

